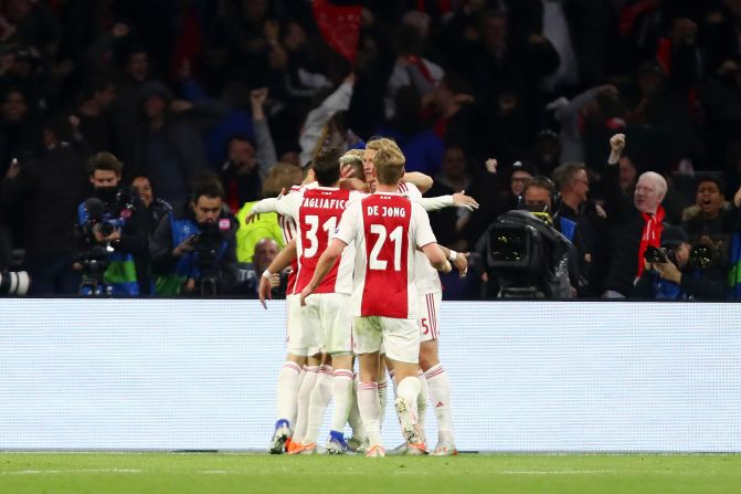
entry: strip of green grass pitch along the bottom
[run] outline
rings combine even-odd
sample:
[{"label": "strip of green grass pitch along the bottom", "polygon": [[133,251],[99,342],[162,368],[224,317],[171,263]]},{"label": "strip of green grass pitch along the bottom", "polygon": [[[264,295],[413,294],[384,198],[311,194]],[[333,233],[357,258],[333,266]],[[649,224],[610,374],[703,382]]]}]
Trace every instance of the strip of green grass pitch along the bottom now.
[{"label": "strip of green grass pitch along the bottom", "polygon": [[321,492],[731,494],[741,492],[741,455],[0,453],[8,494]]}]

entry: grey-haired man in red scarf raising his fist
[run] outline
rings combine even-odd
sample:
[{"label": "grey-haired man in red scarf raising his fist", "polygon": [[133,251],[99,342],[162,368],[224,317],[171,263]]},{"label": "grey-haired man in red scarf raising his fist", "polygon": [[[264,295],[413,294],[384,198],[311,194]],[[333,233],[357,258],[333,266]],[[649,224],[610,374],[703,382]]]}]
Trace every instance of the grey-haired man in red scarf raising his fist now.
[{"label": "grey-haired man in red scarf raising his fist", "polygon": [[610,146],[612,150],[605,176],[607,188],[611,189],[608,193],[612,196],[608,198],[608,218],[615,222],[613,224],[616,228],[616,237],[611,242],[614,251],[602,296],[624,298],[643,274],[643,256],[646,248],[660,246],[665,217],[661,201],[666,197],[667,183],[659,174],[646,171],[638,177],[632,207],[627,207],[624,202],[621,206],[620,199],[610,204],[610,199],[614,199],[618,192],[615,165],[625,147],[625,136],[614,135],[610,139]]}]

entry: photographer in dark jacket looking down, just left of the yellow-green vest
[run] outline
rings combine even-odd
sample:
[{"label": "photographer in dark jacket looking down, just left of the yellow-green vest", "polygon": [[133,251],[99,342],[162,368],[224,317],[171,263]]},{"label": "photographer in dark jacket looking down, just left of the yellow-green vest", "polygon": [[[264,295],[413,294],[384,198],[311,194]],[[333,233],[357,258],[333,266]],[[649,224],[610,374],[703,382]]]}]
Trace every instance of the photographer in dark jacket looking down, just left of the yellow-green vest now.
[{"label": "photographer in dark jacket looking down, just left of the yellow-green vest", "polygon": [[150,245],[157,294],[216,295],[236,282],[236,222],[224,210],[224,189],[205,176],[192,199],[157,227]]}]

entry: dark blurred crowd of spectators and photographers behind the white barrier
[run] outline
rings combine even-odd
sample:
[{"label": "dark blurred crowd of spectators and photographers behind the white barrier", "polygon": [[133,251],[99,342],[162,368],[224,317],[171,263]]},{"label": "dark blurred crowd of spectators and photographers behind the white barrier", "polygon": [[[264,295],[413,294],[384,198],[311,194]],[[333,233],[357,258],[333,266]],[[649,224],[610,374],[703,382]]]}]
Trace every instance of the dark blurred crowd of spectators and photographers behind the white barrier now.
[{"label": "dark blurred crowd of spectators and photographers behind the white barrier", "polygon": [[[78,293],[98,239],[131,255],[106,278],[128,294],[207,293],[181,261],[211,249],[220,292],[253,296],[284,235],[245,225],[252,204],[381,135],[427,196],[480,204],[431,214],[472,252],[447,298],[500,294],[487,232],[511,209],[571,241],[574,296],[741,294],[741,1],[332,4],[359,29],[347,56],[308,0],[0,0],[0,269]],[[128,233],[83,228],[96,197]],[[192,245],[207,220],[223,245]]]}]

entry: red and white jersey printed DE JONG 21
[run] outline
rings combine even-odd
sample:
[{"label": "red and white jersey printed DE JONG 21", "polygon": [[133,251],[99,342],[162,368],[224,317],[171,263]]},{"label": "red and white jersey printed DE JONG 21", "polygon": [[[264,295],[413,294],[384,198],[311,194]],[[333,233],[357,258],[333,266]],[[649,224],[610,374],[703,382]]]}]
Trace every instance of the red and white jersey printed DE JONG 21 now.
[{"label": "red and white jersey printed DE JONG 21", "polygon": [[375,192],[350,203],[335,237],[356,246],[354,315],[416,317],[414,252],[436,242],[420,204]]}]

